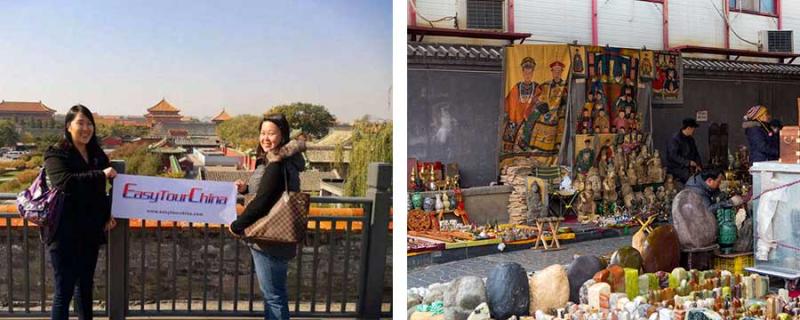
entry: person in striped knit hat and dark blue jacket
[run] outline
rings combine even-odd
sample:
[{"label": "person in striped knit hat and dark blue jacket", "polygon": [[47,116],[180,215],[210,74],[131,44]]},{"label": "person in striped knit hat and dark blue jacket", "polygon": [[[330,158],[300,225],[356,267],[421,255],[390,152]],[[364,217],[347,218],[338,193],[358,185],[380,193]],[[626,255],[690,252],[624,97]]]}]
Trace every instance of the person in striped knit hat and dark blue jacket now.
[{"label": "person in striped knit hat and dark blue jacket", "polygon": [[744,115],[742,128],[750,145],[750,164],[759,161],[778,160],[780,135],[772,127],[769,110],[765,106],[753,106]]}]

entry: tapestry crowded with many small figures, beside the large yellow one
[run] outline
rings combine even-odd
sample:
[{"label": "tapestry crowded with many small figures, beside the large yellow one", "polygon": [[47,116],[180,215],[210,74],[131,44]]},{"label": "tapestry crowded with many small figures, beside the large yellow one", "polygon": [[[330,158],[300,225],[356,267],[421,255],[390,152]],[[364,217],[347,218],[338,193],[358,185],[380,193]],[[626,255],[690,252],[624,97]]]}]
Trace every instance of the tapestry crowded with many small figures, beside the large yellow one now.
[{"label": "tapestry crowded with many small figures, beside the large yellow one", "polygon": [[579,134],[638,130],[639,50],[586,47],[586,103],[578,113]]}]

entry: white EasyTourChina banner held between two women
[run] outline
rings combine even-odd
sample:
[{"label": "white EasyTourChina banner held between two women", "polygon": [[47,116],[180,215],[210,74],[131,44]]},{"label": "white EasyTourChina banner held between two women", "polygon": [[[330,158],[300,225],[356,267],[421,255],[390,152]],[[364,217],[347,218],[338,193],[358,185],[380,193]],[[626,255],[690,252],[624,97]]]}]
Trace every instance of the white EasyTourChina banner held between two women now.
[{"label": "white EasyTourChina banner held between two women", "polygon": [[236,186],[230,182],[119,174],[112,197],[116,218],[215,224],[236,219]]}]

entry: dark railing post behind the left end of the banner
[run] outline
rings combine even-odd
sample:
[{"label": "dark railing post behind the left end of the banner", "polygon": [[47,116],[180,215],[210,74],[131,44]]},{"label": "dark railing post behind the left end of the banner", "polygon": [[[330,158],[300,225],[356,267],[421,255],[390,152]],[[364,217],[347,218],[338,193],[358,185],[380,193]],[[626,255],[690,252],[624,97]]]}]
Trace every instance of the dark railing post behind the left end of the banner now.
[{"label": "dark railing post behind the left end of the banner", "polygon": [[[112,160],[117,173],[125,173],[124,160]],[[125,319],[128,311],[128,219],[117,219],[108,236],[108,318]]]}]

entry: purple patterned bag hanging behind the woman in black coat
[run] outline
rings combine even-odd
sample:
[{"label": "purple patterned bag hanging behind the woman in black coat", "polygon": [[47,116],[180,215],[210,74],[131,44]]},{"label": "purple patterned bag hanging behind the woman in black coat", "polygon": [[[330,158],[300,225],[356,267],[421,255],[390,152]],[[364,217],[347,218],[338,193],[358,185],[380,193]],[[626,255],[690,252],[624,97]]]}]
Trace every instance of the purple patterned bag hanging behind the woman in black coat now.
[{"label": "purple patterned bag hanging behind the woman in black coat", "polygon": [[31,186],[17,195],[17,209],[23,219],[39,226],[42,241],[47,243],[55,235],[64,203],[64,192],[57,187],[48,187],[46,177],[42,168]]}]

